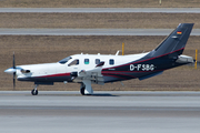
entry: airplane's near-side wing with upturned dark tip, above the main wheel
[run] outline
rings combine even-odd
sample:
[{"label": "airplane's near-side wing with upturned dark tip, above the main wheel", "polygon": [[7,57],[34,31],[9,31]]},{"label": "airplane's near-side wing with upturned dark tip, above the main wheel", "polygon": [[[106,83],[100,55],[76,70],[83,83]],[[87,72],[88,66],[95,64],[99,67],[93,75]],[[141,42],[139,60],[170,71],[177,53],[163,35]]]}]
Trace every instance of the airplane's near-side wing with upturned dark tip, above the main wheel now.
[{"label": "airplane's near-side wing with upturned dark tip, above the main wheel", "polygon": [[104,65],[104,62],[100,62],[98,65],[96,65],[92,70],[81,70],[78,72],[78,75],[74,76],[72,80],[74,82],[82,82],[83,80],[89,80],[91,83],[94,84],[104,84],[103,75],[101,74],[102,66]]}]

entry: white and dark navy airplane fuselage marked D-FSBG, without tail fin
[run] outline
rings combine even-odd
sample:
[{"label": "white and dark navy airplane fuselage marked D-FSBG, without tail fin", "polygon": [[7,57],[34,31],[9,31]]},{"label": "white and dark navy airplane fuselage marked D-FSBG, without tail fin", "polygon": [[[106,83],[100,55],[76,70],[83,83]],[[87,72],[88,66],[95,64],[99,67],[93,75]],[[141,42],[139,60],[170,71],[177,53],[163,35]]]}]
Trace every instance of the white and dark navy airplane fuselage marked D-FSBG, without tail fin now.
[{"label": "white and dark navy airplane fuselage marked D-FSBG, without tail fin", "polygon": [[[17,68],[20,69],[17,69],[17,75],[19,81],[32,81],[37,84],[73,82],[72,72],[92,70],[103,61],[101,74],[103,82],[107,83],[142,79],[186,63],[176,63],[173,59],[168,59],[166,55],[148,58],[148,54],[150,52],[129,55],[74,54],[56,63],[18,65]],[[28,70],[28,72],[22,70]]]}]

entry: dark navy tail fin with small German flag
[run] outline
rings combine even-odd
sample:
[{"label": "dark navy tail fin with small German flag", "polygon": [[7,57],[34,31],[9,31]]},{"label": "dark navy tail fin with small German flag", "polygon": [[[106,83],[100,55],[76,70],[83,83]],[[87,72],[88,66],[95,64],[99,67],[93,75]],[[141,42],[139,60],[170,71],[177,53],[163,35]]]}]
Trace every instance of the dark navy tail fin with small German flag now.
[{"label": "dark navy tail fin with small German flag", "polygon": [[180,23],[177,29],[151,52],[151,57],[169,54],[171,58],[177,58],[182,54],[192,28],[193,23]]}]

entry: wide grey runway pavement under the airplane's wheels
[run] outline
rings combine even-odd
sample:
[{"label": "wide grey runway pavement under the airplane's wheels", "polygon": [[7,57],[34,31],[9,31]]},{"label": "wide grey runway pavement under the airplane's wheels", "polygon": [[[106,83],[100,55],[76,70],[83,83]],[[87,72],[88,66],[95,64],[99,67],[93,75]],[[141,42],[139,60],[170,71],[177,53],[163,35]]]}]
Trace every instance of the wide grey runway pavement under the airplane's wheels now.
[{"label": "wide grey runway pavement under the airplane's wheels", "polygon": [[2,133],[199,133],[200,92],[0,92]]}]

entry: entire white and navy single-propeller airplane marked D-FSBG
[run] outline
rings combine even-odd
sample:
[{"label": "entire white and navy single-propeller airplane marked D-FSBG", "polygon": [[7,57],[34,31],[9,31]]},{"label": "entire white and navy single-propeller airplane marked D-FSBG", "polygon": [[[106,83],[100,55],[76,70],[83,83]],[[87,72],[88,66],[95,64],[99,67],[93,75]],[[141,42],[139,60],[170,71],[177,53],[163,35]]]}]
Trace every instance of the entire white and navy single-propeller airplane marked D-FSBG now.
[{"label": "entire white and navy single-propeller airplane marked D-FSBG", "polygon": [[82,95],[93,94],[91,84],[101,84],[131,79],[144,80],[183,64],[192,63],[192,57],[182,55],[194,23],[180,23],[156,49],[139,54],[73,54],[56,63],[17,65],[4,72],[18,81],[34,83],[32,95],[38,95],[38,85],[54,82],[80,83]]}]

